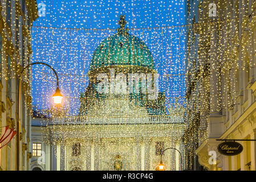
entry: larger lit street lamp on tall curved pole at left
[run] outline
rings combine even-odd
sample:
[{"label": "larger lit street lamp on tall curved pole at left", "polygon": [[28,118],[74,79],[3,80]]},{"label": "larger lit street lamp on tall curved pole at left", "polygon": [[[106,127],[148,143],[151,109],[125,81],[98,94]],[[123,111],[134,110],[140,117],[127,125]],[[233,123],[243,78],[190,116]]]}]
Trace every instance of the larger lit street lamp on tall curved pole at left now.
[{"label": "larger lit street lamp on tall curved pole at left", "polygon": [[20,140],[20,127],[21,127],[21,123],[19,122],[19,113],[20,113],[20,106],[21,106],[21,96],[20,96],[20,92],[21,92],[21,77],[22,77],[22,73],[25,71],[25,69],[29,68],[31,65],[34,64],[43,64],[46,65],[47,67],[51,68],[52,71],[54,71],[56,79],[57,79],[57,88],[55,90],[54,95],[52,96],[53,100],[54,100],[54,104],[61,104],[62,103],[62,94],[60,93],[60,89],[59,89],[59,77],[56,73],[56,71],[54,70],[54,68],[52,68],[50,65],[46,64],[46,63],[42,63],[42,62],[36,62],[36,63],[31,63],[29,65],[27,65],[25,68],[22,69],[21,73],[19,74],[19,86],[18,86],[18,135],[17,135],[17,170],[19,171],[19,140]]}]

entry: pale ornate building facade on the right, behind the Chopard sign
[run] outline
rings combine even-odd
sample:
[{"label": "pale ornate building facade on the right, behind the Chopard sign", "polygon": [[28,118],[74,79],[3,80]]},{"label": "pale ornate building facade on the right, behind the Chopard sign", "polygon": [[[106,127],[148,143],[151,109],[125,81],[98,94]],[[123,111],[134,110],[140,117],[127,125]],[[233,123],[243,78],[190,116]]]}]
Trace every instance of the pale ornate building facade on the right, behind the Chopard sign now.
[{"label": "pale ornate building facade on the right, behind the Chopard sign", "polygon": [[[216,16],[209,15],[210,3]],[[216,140],[255,139],[255,7],[251,0],[198,2],[198,56],[187,72],[187,100],[194,104],[185,137],[198,142],[195,154],[209,170],[255,170],[255,141],[240,142],[241,154],[225,156]],[[210,151],[216,164],[209,163]]]}]

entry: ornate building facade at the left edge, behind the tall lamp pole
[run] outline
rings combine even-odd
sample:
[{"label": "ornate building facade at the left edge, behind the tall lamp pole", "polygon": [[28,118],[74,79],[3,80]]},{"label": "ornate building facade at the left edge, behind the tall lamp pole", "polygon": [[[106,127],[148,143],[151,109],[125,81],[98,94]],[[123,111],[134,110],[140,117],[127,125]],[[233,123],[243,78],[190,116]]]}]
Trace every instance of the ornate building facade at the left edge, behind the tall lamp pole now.
[{"label": "ornate building facade at the left edge, behind the tall lamp pole", "polygon": [[30,63],[30,27],[38,18],[38,9],[35,0],[1,0],[0,12],[0,134],[6,126],[17,131],[18,118],[21,123],[20,133],[0,149],[0,170],[27,170],[31,157],[30,76],[26,72],[22,77],[18,117],[18,75]]}]

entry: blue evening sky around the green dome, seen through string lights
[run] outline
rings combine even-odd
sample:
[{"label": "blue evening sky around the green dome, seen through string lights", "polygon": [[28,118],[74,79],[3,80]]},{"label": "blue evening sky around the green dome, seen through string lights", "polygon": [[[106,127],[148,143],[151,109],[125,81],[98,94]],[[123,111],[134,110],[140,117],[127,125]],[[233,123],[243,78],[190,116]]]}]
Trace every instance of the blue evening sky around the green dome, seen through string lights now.
[{"label": "blue evening sky around the green dome, seen through string lights", "polygon": [[[125,15],[129,33],[139,37],[152,52],[166,102],[184,101],[185,4],[178,1],[62,1],[47,0],[46,16],[32,27],[31,62],[54,67],[60,89],[70,109],[77,113],[79,94],[88,85],[87,72],[96,47],[116,33],[120,15]],[[40,10],[40,6],[38,8]],[[110,30],[109,30],[110,29]],[[166,75],[172,75],[170,77]],[[53,72],[32,67],[32,104],[39,109],[51,106],[56,88]]]}]

